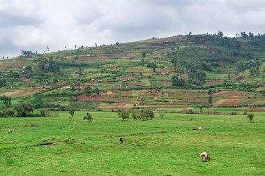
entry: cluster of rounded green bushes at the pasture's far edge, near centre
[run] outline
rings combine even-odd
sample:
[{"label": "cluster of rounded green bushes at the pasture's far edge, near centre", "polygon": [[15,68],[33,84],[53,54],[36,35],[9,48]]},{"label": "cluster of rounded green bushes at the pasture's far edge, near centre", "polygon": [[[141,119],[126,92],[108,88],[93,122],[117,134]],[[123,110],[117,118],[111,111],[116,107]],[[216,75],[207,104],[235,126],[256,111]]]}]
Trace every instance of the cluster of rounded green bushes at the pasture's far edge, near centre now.
[{"label": "cluster of rounded green bushes at the pasture's far edge, near centre", "polygon": [[130,117],[132,114],[132,119],[135,120],[152,120],[155,117],[155,114],[152,110],[123,110],[119,109],[117,112],[118,116],[124,121]]}]

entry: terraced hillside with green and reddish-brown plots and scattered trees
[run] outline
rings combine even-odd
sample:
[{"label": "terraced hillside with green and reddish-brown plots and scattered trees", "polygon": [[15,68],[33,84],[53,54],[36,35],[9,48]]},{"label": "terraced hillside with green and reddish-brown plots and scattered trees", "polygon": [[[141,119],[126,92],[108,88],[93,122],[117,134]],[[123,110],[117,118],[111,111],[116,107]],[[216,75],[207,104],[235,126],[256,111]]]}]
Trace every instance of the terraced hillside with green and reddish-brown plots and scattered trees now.
[{"label": "terraced hillside with green and reddish-brown plots and scattered trees", "polygon": [[265,35],[244,34],[23,51],[0,61],[0,95],[11,97],[12,107],[29,102],[47,110],[264,112]]}]

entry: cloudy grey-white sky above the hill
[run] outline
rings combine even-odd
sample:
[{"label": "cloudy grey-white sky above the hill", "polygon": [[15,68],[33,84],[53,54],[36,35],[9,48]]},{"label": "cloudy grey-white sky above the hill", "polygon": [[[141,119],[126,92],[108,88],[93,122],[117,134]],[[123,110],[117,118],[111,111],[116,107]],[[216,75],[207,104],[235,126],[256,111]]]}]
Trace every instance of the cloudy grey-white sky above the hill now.
[{"label": "cloudy grey-white sky above the hill", "polygon": [[192,34],[264,34],[264,0],[0,0],[0,58]]}]

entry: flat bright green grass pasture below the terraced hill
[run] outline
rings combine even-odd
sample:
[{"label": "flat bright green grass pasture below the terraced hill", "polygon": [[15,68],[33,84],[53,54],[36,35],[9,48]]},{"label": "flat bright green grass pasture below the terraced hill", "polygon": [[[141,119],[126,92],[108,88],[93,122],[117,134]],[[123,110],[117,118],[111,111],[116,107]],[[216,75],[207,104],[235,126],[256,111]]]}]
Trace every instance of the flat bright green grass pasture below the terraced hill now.
[{"label": "flat bright green grass pasture below the terraced hill", "polygon": [[[262,116],[254,123],[241,115],[181,114],[121,122],[114,112],[91,112],[88,123],[84,113],[72,123],[67,112],[0,118],[0,175],[265,175]],[[201,152],[211,161],[202,163]]]}]

